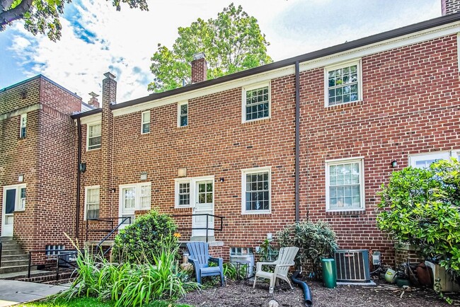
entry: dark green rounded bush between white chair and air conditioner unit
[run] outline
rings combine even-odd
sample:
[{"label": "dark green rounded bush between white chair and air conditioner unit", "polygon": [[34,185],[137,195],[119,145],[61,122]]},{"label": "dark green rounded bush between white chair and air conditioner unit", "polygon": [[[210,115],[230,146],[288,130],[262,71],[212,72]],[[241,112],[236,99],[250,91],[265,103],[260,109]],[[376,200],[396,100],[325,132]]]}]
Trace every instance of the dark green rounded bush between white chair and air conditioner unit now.
[{"label": "dark green rounded bush between white chair and air conditioner unit", "polygon": [[[297,246],[296,266],[310,267],[318,273],[321,259],[333,257],[337,249],[337,237],[330,226],[323,222],[302,221],[287,226],[277,233],[280,246]],[[318,275],[318,274],[317,274]]]}]

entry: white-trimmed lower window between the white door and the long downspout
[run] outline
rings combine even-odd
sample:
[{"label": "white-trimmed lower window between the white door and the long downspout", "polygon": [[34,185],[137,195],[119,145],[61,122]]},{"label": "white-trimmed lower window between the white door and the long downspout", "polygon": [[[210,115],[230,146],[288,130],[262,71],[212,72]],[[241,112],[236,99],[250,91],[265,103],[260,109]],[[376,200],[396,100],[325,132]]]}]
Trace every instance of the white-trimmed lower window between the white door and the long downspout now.
[{"label": "white-trimmed lower window between the white door and the long downspout", "polygon": [[271,168],[241,170],[241,212],[263,214],[271,212]]}]

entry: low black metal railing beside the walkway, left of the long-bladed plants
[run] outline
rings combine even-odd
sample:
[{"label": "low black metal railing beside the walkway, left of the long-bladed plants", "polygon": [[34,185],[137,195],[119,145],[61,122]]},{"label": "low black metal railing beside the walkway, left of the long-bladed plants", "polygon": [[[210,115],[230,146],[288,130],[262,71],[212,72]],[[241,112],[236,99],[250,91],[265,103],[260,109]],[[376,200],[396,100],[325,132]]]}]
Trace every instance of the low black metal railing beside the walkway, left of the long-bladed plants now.
[{"label": "low black metal railing beside the walkway, left of the long-bladed plants", "polygon": [[[50,254],[51,252],[57,252],[54,254]],[[76,268],[76,257],[78,257],[79,250],[30,250],[28,253],[28,272],[27,278],[30,278],[32,267],[42,267],[43,269],[52,268],[54,267],[56,273],[56,280],[59,280],[59,274],[63,271],[69,272],[69,270],[74,270]],[[34,265],[32,263],[32,255],[33,254],[42,254],[41,257],[42,261],[40,263]],[[59,269],[62,268],[62,269]],[[53,270],[49,270],[52,272]]]}]

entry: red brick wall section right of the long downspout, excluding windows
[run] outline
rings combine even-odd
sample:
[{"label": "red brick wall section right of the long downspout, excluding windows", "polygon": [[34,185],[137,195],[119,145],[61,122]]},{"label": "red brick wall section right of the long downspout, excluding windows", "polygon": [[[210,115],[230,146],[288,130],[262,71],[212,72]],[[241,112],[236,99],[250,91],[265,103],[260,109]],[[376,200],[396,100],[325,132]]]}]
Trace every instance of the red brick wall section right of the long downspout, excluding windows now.
[{"label": "red brick wall section right of the long downspout, excluding windows", "polygon": [[[301,217],[333,225],[340,248],[384,252],[376,192],[408,155],[460,148],[456,35],[362,59],[363,101],[324,107],[323,69],[301,74]],[[326,213],[325,161],[364,157],[365,212]],[[391,161],[398,168],[391,168]]]}]

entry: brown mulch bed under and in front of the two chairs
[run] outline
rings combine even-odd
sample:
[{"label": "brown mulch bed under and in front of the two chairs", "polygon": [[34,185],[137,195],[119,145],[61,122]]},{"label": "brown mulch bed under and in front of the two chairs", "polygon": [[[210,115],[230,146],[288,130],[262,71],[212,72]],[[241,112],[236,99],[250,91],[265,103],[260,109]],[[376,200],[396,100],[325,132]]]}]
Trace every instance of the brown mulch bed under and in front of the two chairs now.
[{"label": "brown mulch bed under and in front of the two chairs", "polygon": [[[379,283],[379,281],[376,281]],[[439,299],[439,296],[430,289],[409,288],[404,291],[397,286],[380,282],[376,286],[347,286],[339,285],[336,289],[327,289],[321,282],[307,282],[311,290],[313,306],[315,307],[444,307],[460,306],[459,294],[449,296],[453,299],[452,305]],[[275,287],[272,295],[268,293],[268,284],[257,282],[253,289],[252,282],[227,281],[226,286],[219,284],[209,289],[202,289],[187,294],[179,300],[192,306],[268,306],[268,302],[275,299],[280,306],[305,306],[304,294],[299,286],[293,284],[294,289],[282,282]]]}]

